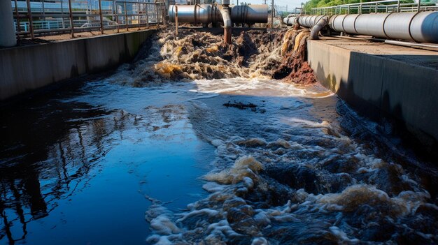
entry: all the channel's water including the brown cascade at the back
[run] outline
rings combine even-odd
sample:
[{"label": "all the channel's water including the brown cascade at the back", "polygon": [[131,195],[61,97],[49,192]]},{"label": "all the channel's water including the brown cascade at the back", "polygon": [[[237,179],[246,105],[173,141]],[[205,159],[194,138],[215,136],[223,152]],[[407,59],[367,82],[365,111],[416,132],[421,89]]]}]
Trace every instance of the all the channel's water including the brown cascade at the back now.
[{"label": "all the channel's water including the brown cascade at the back", "polygon": [[[46,142],[20,136],[10,112],[0,242],[22,221],[30,244],[121,244],[139,227],[147,244],[437,244],[437,168],[313,83],[306,35],[248,32],[225,46],[163,31],[133,64],[24,111]],[[55,122],[65,136],[40,135]],[[35,195],[26,183],[38,178]],[[129,219],[138,209],[148,227]]]}]

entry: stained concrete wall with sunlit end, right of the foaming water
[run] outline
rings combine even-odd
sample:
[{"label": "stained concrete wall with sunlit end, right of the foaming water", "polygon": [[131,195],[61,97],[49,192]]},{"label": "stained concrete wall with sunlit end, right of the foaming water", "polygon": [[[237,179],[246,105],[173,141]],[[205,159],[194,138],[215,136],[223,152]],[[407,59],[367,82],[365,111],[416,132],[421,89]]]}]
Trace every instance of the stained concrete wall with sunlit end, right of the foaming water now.
[{"label": "stained concrete wall with sunlit end, right of the foaming water", "polygon": [[309,40],[307,52],[321,84],[348,104],[402,121],[425,144],[438,141],[438,66],[428,63],[438,61],[438,53],[367,54],[324,40]]}]

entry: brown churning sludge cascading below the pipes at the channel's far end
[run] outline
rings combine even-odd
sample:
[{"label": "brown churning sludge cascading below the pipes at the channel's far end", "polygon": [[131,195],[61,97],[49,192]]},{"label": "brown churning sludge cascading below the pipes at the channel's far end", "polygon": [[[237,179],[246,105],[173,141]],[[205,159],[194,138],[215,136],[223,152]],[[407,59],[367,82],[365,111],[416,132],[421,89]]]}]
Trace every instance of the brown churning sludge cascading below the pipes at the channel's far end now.
[{"label": "brown churning sludge cascading below the pipes at the channel's far end", "polygon": [[304,59],[305,31],[241,32],[232,45],[225,45],[222,36],[195,30],[180,36],[162,31],[151,38],[129,68],[130,76],[115,82],[134,87],[233,77],[316,82]]}]

